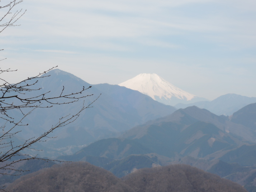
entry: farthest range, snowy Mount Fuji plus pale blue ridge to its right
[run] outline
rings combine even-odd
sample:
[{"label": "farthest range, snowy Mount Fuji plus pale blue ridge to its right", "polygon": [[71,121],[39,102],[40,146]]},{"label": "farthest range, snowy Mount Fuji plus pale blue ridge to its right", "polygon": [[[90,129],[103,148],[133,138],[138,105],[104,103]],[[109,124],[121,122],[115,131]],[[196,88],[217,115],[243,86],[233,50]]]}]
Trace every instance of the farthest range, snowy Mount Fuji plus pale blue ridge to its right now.
[{"label": "farthest range, snowy Mount Fuji plus pale blue ridge to its right", "polygon": [[175,106],[177,109],[197,106],[201,109],[207,109],[216,115],[229,116],[242,107],[256,102],[256,97],[236,94],[222,95],[213,101],[209,101],[181,90],[155,73],[141,73],[130,80],[120,83],[119,86],[137,90],[158,102]]}]

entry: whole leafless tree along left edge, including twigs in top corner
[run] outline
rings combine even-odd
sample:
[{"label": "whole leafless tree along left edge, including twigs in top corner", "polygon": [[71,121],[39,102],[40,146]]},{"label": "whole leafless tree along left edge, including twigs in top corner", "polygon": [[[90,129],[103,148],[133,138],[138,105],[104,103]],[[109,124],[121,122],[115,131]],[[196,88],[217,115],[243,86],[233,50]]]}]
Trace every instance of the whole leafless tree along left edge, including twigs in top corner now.
[{"label": "whole leafless tree along left edge, including twigs in top corner", "polygon": [[[3,0],[0,0],[0,11],[1,13],[4,13],[0,16],[0,33],[7,27],[17,26],[16,21],[25,13],[23,10],[12,12],[13,8],[22,3],[23,0],[11,0],[9,1],[10,3],[5,3],[5,5],[1,5],[3,4],[2,2]],[[22,144],[15,144],[13,139],[20,131],[22,131],[18,128],[28,125],[23,124],[22,122],[24,118],[31,114],[35,109],[51,108],[54,105],[70,104],[91,96],[86,94],[86,90],[91,86],[81,87],[80,90],[72,93],[65,92],[63,87],[62,91],[55,96],[50,96],[50,91],[38,93],[38,91],[41,90],[41,87],[38,87],[39,80],[47,78],[49,76],[47,75],[47,72],[51,69],[39,73],[37,76],[28,77],[23,81],[13,84],[1,78],[1,75],[3,75],[3,73],[9,73],[16,70],[0,68],[0,122],[5,122],[4,124],[0,124],[0,175],[15,175],[19,174],[19,172],[26,171],[15,168],[14,165],[18,162],[29,159],[43,159],[37,155],[31,156],[30,154],[25,154],[24,149],[34,149],[33,145],[35,143],[45,141],[46,138],[51,138],[51,136],[49,136],[50,133],[57,128],[66,126],[75,121],[77,117],[79,117],[80,113],[91,107],[91,104],[95,101],[94,100],[89,105],[83,104],[75,114],[67,114],[66,116],[61,117],[55,125],[50,127],[41,135],[29,138]],[[19,111],[19,114],[21,114],[22,117],[17,119],[17,116],[13,115],[12,111]],[[12,172],[10,173],[10,171]],[[15,173],[13,173],[13,171]],[[0,191],[4,191],[4,189],[0,189]]]}]

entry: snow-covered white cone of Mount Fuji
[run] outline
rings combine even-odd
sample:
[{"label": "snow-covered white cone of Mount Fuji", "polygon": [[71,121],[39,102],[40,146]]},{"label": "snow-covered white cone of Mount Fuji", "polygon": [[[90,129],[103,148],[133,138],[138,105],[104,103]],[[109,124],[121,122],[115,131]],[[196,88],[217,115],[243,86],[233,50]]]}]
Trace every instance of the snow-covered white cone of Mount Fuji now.
[{"label": "snow-covered white cone of Mount Fuji", "polygon": [[153,100],[166,105],[179,103],[190,104],[198,101],[208,101],[181,90],[155,73],[141,73],[130,80],[118,84],[150,96]]}]

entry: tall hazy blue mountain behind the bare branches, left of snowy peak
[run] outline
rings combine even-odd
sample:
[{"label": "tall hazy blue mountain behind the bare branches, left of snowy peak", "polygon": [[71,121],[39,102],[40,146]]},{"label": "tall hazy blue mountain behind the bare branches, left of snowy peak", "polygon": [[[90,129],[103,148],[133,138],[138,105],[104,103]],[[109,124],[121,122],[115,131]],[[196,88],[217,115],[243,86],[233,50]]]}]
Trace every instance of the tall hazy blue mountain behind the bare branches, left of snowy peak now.
[{"label": "tall hazy blue mountain behind the bare branches, left of snowy peak", "polygon": [[[99,139],[118,136],[136,125],[169,115],[176,110],[175,107],[161,104],[138,91],[118,85],[90,85],[59,69],[49,71],[46,75],[50,76],[39,79],[37,83],[38,88],[42,89],[31,94],[40,95],[51,91],[48,96],[56,96],[61,93],[63,86],[66,93],[81,90],[83,86],[85,88],[92,86],[85,94],[93,94],[93,96],[85,98],[85,105],[93,102],[100,94],[101,96],[94,102],[93,108],[82,112],[74,123],[55,130],[51,136],[57,136],[57,138],[50,139],[43,145],[37,144],[37,148],[43,149],[40,153],[43,156],[57,157],[63,153],[72,154],[84,145]],[[34,95],[27,95],[27,97],[30,96]],[[73,104],[34,110],[23,121],[29,125],[22,127],[22,132],[16,135],[19,136],[16,139],[17,142],[43,133],[56,124],[59,118],[74,114],[81,109],[82,105],[83,100],[80,100]],[[22,117],[18,111],[12,112],[17,119]]]}]

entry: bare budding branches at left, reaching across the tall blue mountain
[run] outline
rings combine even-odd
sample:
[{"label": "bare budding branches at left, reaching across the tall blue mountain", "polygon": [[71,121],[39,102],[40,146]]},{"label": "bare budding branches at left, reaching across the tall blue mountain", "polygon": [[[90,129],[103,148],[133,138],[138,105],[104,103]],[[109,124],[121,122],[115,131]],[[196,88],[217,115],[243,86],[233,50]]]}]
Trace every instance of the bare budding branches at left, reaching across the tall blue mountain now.
[{"label": "bare budding branches at left, reaching across the tall blue mountain", "polygon": [[[56,66],[57,67],[57,66]],[[55,67],[53,67],[55,68]],[[51,69],[53,69],[51,68]],[[16,134],[20,132],[20,130],[16,130],[17,126],[27,126],[28,124],[22,124],[22,121],[27,117],[28,115],[32,114],[33,111],[37,108],[48,108],[52,107],[53,105],[65,105],[65,104],[70,104],[73,102],[76,102],[80,99],[85,99],[85,97],[92,96],[92,95],[86,95],[84,92],[88,90],[91,86],[88,88],[82,87],[80,91],[77,91],[75,93],[63,93],[65,87],[62,88],[61,92],[53,97],[47,97],[47,93],[39,94],[34,97],[25,97],[28,92],[35,92],[38,90],[41,90],[41,88],[31,88],[31,86],[37,85],[36,81],[35,83],[30,83],[30,81],[33,81],[38,78],[47,78],[49,75],[44,75],[43,74],[47,73],[51,69],[48,69],[47,71],[44,71],[43,73],[39,73],[39,75],[35,77],[30,77],[27,78],[19,83],[15,84],[9,84],[7,81],[4,81],[5,83],[0,86],[0,119],[5,120],[6,123],[9,122],[13,124],[11,127],[9,127],[7,130],[6,129],[6,123],[2,125],[0,128],[3,130],[3,133],[0,135],[0,174],[2,175],[16,175],[13,173],[9,173],[8,170],[10,171],[15,171],[15,172],[24,172],[26,170],[19,170],[13,167],[14,164],[23,161],[23,160],[30,160],[30,159],[41,159],[41,160],[46,160],[49,161],[51,159],[44,159],[40,158],[37,155],[31,156],[29,154],[23,154],[22,151],[24,149],[34,149],[33,145],[38,142],[46,141],[47,138],[52,138],[48,136],[50,133],[52,133],[55,129],[61,128],[63,126],[66,126],[72,122],[74,122],[80,115],[82,111],[84,111],[87,108],[92,107],[91,104],[93,104],[98,98],[96,98],[93,102],[91,102],[89,105],[85,106],[85,102],[81,106],[81,109],[78,110],[75,114],[67,114],[66,116],[61,117],[58,122],[53,125],[51,128],[49,128],[46,132],[42,133],[39,136],[29,138],[24,141],[22,144],[14,145],[14,142],[11,138],[13,138]],[[0,69],[0,74],[3,72],[10,72],[10,69],[7,70],[1,70]],[[0,78],[1,79],[1,78]],[[24,95],[23,98],[21,98],[18,95],[10,95],[12,93],[20,93],[21,95]],[[65,98],[66,101],[64,102],[55,102],[52,100],[56,99],[61,99]],[[15,100],[15,101],[14,101]],[[19,102],[17,102],[19,101]],[[46,104],[46,105],[43,105]],[[47,105],[50,104],[50,105]],[[26,114],[23,114],[22,109],[23,108],[31,108],[29,112]],[[15,119],[15,117],[12,117],[8,115],[9,110],[14,110],[14,109],[19,109],[23,115],[21,119],[18,121]],[[4,149],[4,150],[3,150]],[[37,149],[34,149],[37,150]],[[18,158],[17,158],[18,157]],[[55,160],[51,160],[55,161]]]}]

